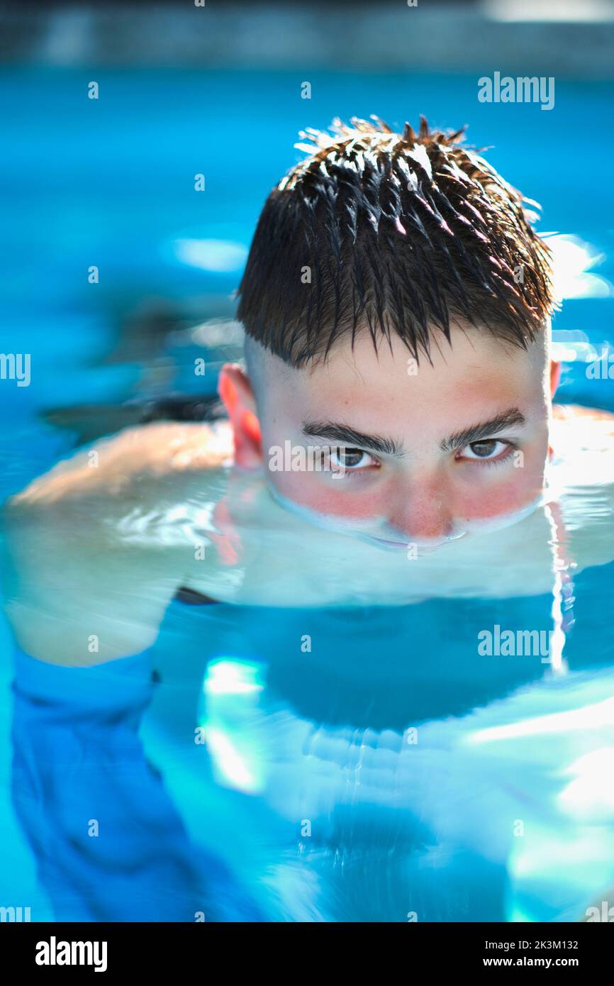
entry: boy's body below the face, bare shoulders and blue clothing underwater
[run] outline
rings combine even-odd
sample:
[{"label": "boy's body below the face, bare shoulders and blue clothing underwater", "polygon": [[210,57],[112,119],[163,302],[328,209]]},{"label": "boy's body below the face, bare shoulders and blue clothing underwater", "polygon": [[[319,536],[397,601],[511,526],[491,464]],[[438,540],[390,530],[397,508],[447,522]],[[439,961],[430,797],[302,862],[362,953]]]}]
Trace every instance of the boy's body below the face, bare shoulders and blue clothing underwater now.
[{"label": "boy's body below the face, bare shoulders and blue clothing underwater", "polygon": [[[614,669],[606,641],[593,653],[582,643],[602,599],[572,578],[613,554],[614,422],[556,413],[544,503],[412,558],[283,509],[262,475],[232,466],[226,424],[123,433],[96,447],[97,469],[82,453],[13,501],[7,596],[22,647],[111,673],[78,695],[60,679],[51,700],[38,662],[18,667],[18,810],[44,859],[35,791],[47,792],[42,873],[56,913],[582,920],[614,881]],[[179,587],[220,601],[171,601]],[[553,646],[480,650],[496,627],[554,632]],[[150,647],[125,670],[113,660]],[[146,747],[164,787],[135,732],[152,695]],[[195,811],[198,851],[183,828]],[[102,859],[74,830],[81,815],[111,840]],[[145,830],[146,842],[119,834]]]}]

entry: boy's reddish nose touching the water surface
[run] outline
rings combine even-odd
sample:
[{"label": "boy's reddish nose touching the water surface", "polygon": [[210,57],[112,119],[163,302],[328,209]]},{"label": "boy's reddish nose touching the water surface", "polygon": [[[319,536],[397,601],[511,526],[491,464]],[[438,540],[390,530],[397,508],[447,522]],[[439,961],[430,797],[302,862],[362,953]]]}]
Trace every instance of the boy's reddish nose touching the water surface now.
[{"label": "boy's reddish nose touching the water surface", "polygon": [[442,476],[411,477],[394,491],[388,523],[408,541],[432,541],[450,537],[454,529],[451,490]]}]

